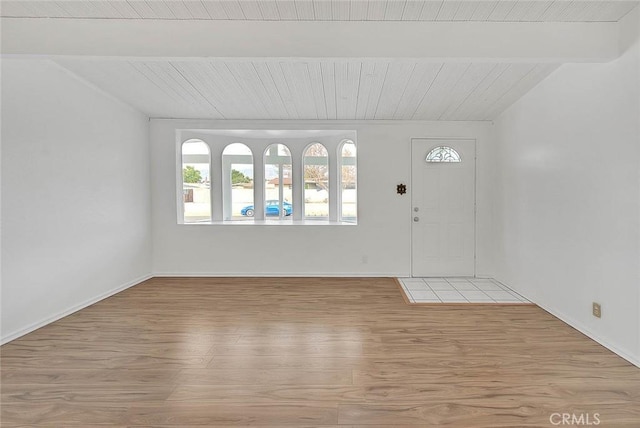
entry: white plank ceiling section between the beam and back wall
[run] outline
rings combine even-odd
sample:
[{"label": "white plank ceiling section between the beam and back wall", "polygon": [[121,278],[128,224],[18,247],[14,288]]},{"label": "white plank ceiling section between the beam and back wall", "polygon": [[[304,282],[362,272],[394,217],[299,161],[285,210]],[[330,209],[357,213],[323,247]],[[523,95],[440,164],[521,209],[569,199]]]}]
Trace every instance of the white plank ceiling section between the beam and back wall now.
[{"label": "white plank ceiling section between the beam and back wall", "polygon": [[491,120],[558,64],[58,59],[150,117]]}]

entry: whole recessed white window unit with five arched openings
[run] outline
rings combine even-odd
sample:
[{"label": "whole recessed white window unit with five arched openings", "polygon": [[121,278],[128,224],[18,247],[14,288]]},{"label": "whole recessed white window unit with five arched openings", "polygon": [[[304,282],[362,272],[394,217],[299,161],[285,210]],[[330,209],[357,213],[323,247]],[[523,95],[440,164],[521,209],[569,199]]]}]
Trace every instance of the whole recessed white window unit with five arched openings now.
[{"label": "whole recessed white window unit with five arched openings", "polygon": [[354,130],[185,129],[176,135],[178,224],[358,223]]}]

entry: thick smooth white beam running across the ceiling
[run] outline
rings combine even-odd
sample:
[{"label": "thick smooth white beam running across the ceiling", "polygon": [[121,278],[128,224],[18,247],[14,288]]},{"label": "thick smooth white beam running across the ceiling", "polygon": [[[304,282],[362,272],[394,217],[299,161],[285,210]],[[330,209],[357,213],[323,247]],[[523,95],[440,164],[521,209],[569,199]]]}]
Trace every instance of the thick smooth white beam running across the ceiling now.
[{"label": "thick smooth white beam running across the ceiling", "polygon": [[133,58],[606,62],[617,23],[2,18],[2,53]]}]

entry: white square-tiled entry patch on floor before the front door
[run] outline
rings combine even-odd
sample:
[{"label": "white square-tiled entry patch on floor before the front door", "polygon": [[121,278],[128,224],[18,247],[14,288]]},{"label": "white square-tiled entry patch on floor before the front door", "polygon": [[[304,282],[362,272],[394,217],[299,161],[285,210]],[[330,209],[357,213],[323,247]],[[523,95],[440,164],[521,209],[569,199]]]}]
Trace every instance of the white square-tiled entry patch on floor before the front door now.
[{"label": "white square-tiled entry patch on floor before the front door", "polygon": [[531,304],[494,279],[398,278],[410,303]]}]

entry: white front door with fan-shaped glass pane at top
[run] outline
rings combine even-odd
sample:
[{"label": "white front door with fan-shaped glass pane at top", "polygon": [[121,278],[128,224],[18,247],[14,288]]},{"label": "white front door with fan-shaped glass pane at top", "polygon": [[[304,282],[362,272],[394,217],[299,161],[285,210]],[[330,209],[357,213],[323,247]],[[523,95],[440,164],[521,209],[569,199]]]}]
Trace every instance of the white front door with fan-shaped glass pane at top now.
[{"label": "white front door with fan-shaped glass pane at top", "polygon": [[413,139],[411,156],[411,274],[474,276],[475,140]]}]

